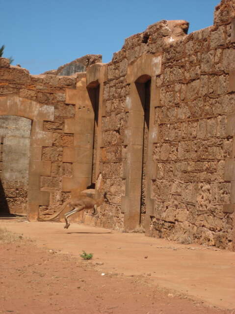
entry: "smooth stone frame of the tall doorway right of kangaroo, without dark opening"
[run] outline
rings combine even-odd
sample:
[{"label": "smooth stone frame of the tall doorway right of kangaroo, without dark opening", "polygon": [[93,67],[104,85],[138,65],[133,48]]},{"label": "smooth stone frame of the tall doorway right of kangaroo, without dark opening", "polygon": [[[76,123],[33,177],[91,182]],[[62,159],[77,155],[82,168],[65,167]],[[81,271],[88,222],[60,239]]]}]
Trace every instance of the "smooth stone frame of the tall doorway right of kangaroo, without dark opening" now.
[{"label": "smooth stone frame of the tall doorway right of kangaroo, without dark opening", "polygon": [[[129,114],[126,129],[127,162],[123,163],[126,178],[126,195],[122,197],[122,212],[125,214],[126,231],[140,227],[141,177],[143,160],[144,110],[141,102],[141,90],[136,83],[145,83],[151,79],[149,138],[146,167],[146,235],[149,234],[150,216],[154,213],[154,200],[151,198],[152,179],[156,176],[156,163],[153,162],[153,143],[157,133],[154,129],[154,108],[158,103],[156,76],[161,71],[161,56],[142,55],[128,67],[127,81],[131,84],[130,96],[126,99],[126,112]],[[142,84],[143,85],[143,84]],[[140,86],[140,88],[142,88]]]}]

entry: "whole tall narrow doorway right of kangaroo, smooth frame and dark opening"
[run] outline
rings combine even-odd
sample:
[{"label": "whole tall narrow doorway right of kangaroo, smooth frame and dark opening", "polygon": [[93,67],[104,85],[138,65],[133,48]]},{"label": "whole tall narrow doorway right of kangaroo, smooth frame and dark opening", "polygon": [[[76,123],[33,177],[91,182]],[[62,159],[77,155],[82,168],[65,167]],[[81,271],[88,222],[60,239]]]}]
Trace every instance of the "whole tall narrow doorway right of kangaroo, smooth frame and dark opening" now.
[{"label": "whole tall narrow doorway right of kangaroo, smooth frame and dark opening", "polygon": [[142,55],[128,68],[130,94],[126,98],[127,128],[124,140],[123,178],[126,193],[122,197],[122,213],[126,231],[145,229],[154,212],[151,198],[156,162],[153,161],[154,112],[159,90],[156,76],[161,71],[161,56]]}]

